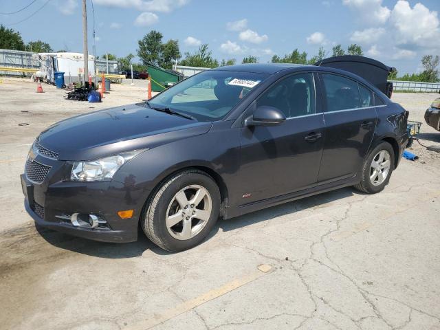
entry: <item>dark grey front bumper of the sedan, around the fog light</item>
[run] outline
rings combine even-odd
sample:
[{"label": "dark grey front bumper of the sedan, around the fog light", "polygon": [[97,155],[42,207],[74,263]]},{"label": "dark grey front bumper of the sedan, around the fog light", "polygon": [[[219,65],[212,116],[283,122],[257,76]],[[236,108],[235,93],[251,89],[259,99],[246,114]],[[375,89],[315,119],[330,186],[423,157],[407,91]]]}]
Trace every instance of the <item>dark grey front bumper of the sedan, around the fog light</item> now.
[{"label": "dark grey front bumper of the sedan, around the fog light", "polygon": [[[95,241],[122,243],[137,240],[137,225],[147,191],[118,181],[60,181],[54,167],[41,184],[21,175],[26,210],[36,223]],[[131,209],[134,212],[130,219],[118,216],[118,211]],[[106,223],[97,228],[83,228],[63,219],[74,213],[96,214]]]}]

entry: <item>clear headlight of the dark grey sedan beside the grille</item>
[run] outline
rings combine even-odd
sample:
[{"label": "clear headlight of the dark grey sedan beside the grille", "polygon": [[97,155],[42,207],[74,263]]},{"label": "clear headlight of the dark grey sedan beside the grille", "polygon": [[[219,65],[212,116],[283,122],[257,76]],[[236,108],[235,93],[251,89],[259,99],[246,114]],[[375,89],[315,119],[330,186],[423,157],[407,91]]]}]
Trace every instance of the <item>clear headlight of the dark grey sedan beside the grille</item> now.
[{"label": "clear headlight of the dark grey sedan beside the grille", "polygon": [[110,181],[116,171],[135,155],[144,150],[129,151],[120,155],[91,160],[89,162],[74,162],[71,181]]}]

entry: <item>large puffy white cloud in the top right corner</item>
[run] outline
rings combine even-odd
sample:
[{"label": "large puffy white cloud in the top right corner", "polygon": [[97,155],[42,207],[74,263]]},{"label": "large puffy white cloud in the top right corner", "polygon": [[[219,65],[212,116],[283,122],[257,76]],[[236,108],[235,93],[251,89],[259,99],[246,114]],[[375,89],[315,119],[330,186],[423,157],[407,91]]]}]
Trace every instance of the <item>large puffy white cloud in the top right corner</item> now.
[{"label": "large puffy white cloud in the top right corner", "polygon": [[408,1],[397,1],[391,14],[391,22],[402,47],[406,45],[415,49],[438,45],[440,29],[437,12],[430,11],[421,3],[416,3],[411,8]]}]

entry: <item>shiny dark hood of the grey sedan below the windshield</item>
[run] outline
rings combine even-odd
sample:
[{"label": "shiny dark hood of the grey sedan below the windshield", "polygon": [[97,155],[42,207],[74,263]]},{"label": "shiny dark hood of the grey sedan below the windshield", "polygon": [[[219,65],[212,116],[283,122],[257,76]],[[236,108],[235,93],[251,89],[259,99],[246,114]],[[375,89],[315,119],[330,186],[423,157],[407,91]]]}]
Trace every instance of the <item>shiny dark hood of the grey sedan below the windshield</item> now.
[{"label": "shiny dark hood of the grey sedan below the windshield", "polygon": [[140,148],[153,148],[209,131],[211,122],[197,122],[130,104],[69,118],[48,127],[39,144],[60,160],[89,160]]}]

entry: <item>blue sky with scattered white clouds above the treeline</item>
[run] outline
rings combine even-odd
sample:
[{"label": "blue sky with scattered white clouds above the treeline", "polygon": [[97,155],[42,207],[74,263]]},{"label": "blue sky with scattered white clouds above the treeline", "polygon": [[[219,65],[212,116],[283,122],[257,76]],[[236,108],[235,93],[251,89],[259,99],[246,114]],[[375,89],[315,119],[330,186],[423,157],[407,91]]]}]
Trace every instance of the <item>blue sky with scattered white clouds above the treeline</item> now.
[{"label": "blue sky with scattered white clouds above the treeline", "polygon": [[[29,5],[32,3],[31,5]],[[54,50],[83,52],[80,0],[0,0],[0,23],[21,32],[25,43],[41,39]],[[440,0],[87,0],[89,52],[136,54],[151,30],[177,39],[181,54],[208,43],[212,55],[253,55],[262,63],[298,48],[362,46],[364,55],[421,72],[421,57],[440,54]],[[44,6],[43,6],[44,5]],[[43,8],[42,8],[43,7]],[[41,9],[40,9],[41,8]],[[38,10],[38,11],[37,11]]]}]

